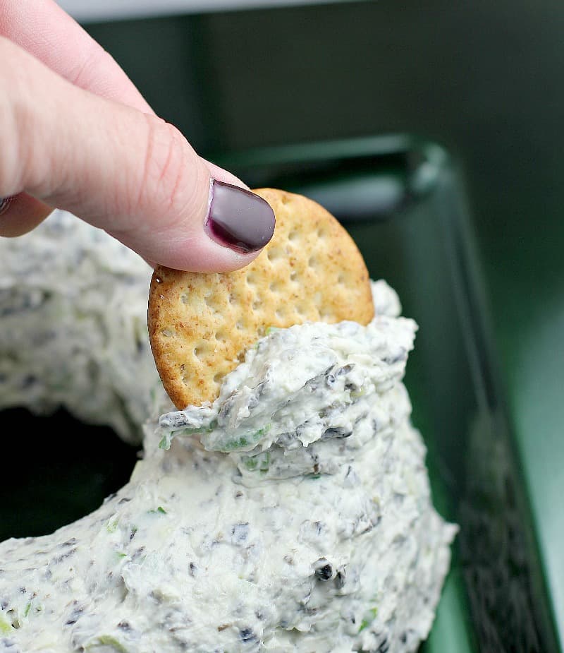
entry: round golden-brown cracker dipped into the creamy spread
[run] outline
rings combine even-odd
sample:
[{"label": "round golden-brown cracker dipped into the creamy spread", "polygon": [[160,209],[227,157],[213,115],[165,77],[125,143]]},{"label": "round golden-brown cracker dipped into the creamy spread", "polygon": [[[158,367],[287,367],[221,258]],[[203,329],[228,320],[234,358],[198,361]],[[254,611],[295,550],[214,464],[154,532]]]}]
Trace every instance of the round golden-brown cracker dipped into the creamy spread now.
[{"label": "round golden-brown cracker dipped into the creamy spread", "polygon": [[341,224],[313,200],[261,188],[274,236],[243,270],[180,272],[158,267],[149,290],[149,337],[174,405],[201,405],[269,326],[308,320],[367,324],[374,316],[369,275]]}]

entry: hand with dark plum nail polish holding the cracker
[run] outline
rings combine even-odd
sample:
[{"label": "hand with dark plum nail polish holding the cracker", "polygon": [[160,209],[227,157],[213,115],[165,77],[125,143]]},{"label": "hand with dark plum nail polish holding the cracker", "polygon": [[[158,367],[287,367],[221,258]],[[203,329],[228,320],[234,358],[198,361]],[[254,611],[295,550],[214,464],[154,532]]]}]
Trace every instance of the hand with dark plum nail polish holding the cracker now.
[{"label": "hand with dark plum nail polish holding the cracker", "polygon": [[241,268],[274,231],[269,205],[155,116],[51,0],[0,0],[0,198],[8,197],[1,236],[24,234],[59,207],[180,270]]}]

